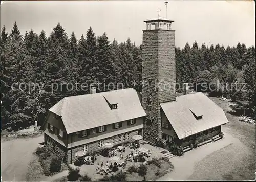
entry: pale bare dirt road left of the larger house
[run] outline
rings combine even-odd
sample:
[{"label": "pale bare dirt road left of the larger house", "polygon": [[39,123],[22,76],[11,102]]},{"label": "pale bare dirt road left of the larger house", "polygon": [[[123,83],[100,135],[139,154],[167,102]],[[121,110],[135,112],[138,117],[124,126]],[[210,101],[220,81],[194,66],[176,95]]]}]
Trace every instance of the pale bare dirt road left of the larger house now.
[{"label": "pale bare dirt road left of the larger house", "polygon": [[1,175],[3,181],[25,181],[32,153],[44,141],[43,135],[36,138],[1,140]]}]

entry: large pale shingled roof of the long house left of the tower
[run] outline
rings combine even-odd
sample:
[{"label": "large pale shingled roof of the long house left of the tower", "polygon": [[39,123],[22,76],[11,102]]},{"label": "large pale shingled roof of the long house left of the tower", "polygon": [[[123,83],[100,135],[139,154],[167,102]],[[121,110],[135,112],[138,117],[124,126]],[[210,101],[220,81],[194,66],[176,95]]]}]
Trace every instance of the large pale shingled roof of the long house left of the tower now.
[{"label": "large pale shingled roof of the long house left of the tower", "polygon": [[61,116],[68,134],[146,116],[133,88],[65,97],[49,111]]}]

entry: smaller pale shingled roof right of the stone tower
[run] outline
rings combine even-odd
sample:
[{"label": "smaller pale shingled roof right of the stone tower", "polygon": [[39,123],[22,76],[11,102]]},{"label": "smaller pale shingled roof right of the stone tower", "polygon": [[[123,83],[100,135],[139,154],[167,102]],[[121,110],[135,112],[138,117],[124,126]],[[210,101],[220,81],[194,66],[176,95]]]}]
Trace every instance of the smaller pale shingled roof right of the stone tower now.
[{"label": "smaller pale shingled roof right of the stone tower", "polygon": [[[179,139],[228,123],[224,111],[201,92],[160,105]],[[202,118],[196,119],[193,113]]]}]

